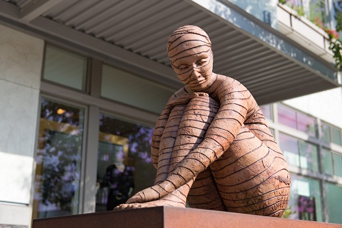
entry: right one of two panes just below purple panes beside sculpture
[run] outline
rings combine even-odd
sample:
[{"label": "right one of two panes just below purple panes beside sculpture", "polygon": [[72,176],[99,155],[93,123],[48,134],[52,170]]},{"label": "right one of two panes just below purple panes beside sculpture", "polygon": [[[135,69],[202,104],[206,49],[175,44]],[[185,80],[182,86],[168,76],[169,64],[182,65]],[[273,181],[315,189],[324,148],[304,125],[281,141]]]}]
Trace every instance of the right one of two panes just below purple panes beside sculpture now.
[{"label": "right one of two panes just below purple panes beside sculpture", "polygon": [[317,146],[299,141],[300,147],[300,167],[318,172],[318,149]]}]

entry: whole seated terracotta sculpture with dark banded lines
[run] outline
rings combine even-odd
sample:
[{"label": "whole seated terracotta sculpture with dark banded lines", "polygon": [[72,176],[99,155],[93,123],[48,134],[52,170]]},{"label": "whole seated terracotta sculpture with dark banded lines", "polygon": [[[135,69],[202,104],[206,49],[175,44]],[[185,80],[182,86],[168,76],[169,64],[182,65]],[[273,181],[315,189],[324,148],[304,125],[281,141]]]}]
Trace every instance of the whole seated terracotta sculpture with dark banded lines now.
[{"label": "whole seated terracotta sculpture with dark banded lines", "polygon": [[290,175],[257,101],[239,81],[213,73],[209,36],[176,29],[168,56],[184,87],[161,113],[151,143],[155,186],[116,210],[170,205],[282,216]]}]

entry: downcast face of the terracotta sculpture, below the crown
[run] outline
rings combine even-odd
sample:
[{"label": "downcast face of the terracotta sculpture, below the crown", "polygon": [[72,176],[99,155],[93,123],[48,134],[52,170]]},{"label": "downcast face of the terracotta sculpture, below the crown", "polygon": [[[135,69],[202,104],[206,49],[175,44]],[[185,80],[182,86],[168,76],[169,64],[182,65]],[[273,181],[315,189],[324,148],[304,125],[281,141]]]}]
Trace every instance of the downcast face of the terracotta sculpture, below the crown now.
[{"label": "downcast face of the terracotta sculpture, below the crown", "polygon": [[211,86],[213,53],[202,40],[185,41],[169,51],[172,68],[179,79],[194,92]]}]

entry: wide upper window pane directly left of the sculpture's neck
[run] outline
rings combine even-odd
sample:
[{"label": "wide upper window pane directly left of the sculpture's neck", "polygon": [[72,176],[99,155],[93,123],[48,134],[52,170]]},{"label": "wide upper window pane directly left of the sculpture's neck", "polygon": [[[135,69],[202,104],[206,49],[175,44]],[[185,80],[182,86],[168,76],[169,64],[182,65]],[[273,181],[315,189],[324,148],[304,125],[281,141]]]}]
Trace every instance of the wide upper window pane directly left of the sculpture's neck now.
[{"label": "wide upper window pane directly left of the sculpture's neck", "polygon": [[103,65],[102,73],[102,97],[157,114],[175,92],[111,66]]}]

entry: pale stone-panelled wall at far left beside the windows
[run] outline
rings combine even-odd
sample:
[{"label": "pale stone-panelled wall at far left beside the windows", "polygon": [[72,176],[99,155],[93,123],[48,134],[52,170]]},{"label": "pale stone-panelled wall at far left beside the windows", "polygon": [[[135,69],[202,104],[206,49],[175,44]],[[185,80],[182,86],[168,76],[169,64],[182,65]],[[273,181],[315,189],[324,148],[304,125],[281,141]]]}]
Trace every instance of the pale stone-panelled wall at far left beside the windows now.
[{"label": "pale stone-panelled wall at far left beside the windows", "polygon": [[31,224],[44,42],[0,25],[0,225]]}]

